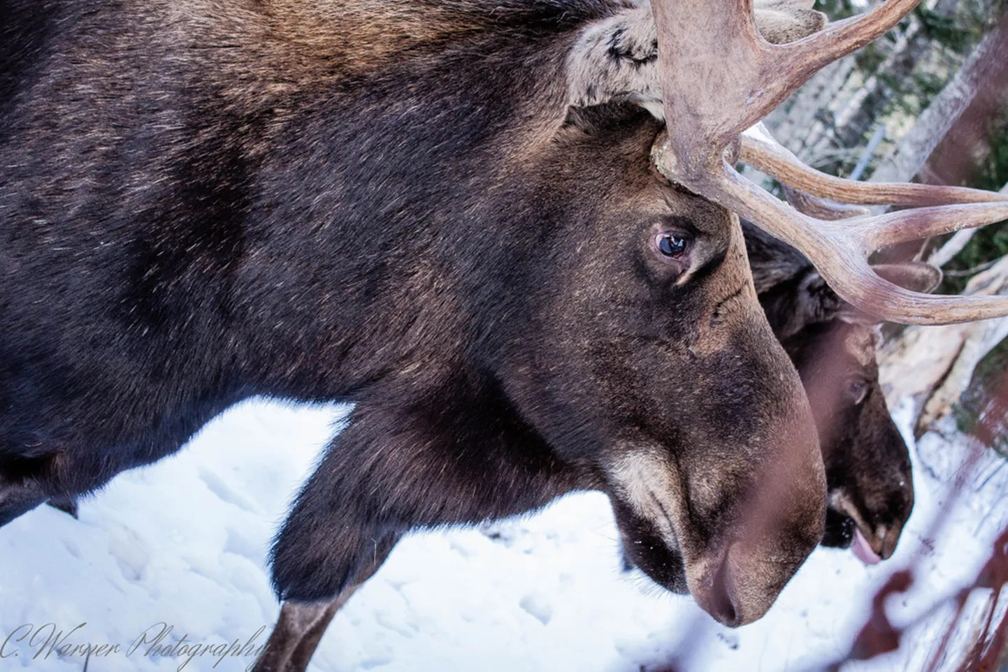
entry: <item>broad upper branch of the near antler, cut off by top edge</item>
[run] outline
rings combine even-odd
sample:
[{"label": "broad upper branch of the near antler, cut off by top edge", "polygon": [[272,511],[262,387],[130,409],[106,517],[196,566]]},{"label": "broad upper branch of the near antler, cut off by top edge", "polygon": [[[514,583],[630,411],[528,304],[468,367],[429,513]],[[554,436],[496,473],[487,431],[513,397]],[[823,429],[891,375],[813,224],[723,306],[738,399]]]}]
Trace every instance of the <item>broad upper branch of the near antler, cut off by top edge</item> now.
[{"label": "broad upper branch of the near antler, cut off by top edge", "polygon": [[[652,1],[665,119],[676,128],[674,172],[691,178],[709,171],[742,131],[816,71],[881,35],[918,2],[888,0],[803,39],[771,44],[756,29],[752,0]],[[680,140],[685,147],[675,147]],[[683,151],[689,145],[694,151]]]}]

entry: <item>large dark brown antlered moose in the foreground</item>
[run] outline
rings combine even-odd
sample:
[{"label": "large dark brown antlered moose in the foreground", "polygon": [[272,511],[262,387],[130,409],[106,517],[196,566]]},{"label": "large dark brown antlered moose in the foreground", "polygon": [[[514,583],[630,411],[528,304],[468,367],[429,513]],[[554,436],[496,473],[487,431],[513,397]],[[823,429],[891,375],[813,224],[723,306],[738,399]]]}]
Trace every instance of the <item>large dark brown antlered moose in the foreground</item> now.
[{"label": "large dark brown antlered moose in the foreground", "polygon": [[658,584],[761,617],[826,480],[733,213],[852,304],[936,323],[1008,310],[864,255],[1008,207],[897,186],[852,197],[969,205],[830,228],[725,160],[794,172],[743,131],[914,0],[829,26],[653,4],[0,0],[0,524],[249,396],[344,399],[273,547],[260,670],[302,669],[406,531],[573,489]]}]

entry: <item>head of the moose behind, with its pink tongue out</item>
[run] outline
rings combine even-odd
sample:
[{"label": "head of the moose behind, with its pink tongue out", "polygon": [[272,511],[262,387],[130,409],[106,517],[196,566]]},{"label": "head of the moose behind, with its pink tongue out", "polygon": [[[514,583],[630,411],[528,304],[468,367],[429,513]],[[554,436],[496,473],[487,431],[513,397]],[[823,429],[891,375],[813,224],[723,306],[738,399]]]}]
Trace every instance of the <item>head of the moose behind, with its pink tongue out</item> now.
[{"label": "head of the moose behind, with its pink tongue out", "polygon": [[[868,563],[886,559],[913,508],[913,478],[879,384],[881,322],[837,296],[804,255],[742,224],[760,303],[798,370],[818,428],[829,493],[822,543],[853,543]],[[873,269],[920,292],[941,279],[938,269],[919,262]]]}]

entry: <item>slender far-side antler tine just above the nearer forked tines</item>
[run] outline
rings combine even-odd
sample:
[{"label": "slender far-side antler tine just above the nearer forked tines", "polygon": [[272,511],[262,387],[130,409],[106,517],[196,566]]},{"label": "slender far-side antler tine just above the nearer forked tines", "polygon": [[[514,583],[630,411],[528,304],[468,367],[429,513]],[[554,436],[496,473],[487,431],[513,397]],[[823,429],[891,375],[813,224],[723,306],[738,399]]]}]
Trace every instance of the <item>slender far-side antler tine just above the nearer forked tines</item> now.
[{"label": "slender far-side antler tine just above the nearer forked tines", "polygon": [[[798,191],[821,198],[862,206],[942,206],[946,204],[1006,201],[1008,195],[965,186],[861,182],[820,172],[778,143],[763,124],[742,134],[739,157]],[[826,218],[829,219],[829,218]]]}]

